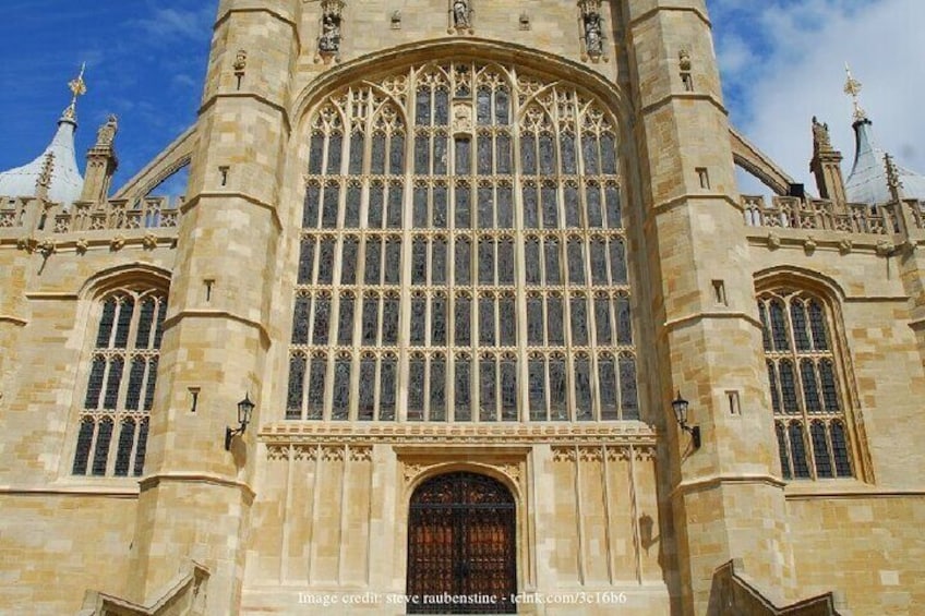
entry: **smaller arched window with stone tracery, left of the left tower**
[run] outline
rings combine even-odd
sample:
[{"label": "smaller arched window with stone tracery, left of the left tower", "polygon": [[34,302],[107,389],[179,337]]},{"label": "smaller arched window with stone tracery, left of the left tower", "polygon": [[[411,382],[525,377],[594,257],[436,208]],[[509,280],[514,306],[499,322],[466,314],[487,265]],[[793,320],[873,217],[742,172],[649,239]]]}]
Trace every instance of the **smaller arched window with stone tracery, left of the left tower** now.
[{"label": "smaller arched window with stone tracery, left of the left tower", "polygon": [[167,295],[121,288],[96,305],[98,317],[71,472],[139,476],[147,445]]}]

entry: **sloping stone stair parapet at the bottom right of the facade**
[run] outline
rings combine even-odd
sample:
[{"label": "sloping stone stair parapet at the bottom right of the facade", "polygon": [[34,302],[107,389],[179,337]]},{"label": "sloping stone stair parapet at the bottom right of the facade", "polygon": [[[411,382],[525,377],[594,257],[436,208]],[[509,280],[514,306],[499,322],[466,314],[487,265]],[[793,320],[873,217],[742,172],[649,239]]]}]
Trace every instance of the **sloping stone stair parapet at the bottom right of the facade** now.
[{"label": "sloping stone stair parapet at the bottom right of the facade", "polygon": [[742,561],[730,560],[713,572],[708,614],[737,616],[839,616],[841,599],[826,593],[785,607],[776,606],[742,573]]}]

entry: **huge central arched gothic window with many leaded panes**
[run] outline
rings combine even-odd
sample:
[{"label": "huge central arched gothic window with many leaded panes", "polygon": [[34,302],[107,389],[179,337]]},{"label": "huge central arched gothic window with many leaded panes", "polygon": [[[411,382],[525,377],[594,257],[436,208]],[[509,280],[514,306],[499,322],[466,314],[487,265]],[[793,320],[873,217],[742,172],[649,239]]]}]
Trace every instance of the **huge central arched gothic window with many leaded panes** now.
[{"label": "huge central arched gothic window with many leaded panes", "polygon": [[428,64],[310,121],[287,419],[638,419],[600,102],[509,67]]}]

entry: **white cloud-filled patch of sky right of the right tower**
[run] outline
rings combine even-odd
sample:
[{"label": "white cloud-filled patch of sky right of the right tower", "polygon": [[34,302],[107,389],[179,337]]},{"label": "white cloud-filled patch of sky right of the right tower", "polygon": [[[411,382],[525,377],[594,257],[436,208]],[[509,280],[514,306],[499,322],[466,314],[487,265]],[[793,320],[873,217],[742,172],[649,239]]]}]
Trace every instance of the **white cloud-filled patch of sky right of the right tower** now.
[{"label": "white cloud-filled patch of sky right of the right tower", "polygon": [[[925,32],[922,0],[713,0],[720,63],[733,123],[815,193],[808,170],[810,119],[831,130],[851,172],[854,136],[844,63],[864,83],[862,104],[878,145],[925,172]],[[728,31],[728,32],[724,32]],[[749,47],[758,65],[742,62]],[[760,60],[757,60],[760,58]],[[750,192],[752,186],[742,186]]]}]

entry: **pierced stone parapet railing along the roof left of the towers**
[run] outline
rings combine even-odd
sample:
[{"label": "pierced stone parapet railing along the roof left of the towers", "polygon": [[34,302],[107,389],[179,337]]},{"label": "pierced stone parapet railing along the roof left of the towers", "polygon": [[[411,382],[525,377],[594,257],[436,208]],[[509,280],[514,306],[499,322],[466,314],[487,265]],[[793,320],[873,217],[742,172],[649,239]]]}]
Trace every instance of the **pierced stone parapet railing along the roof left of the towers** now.
[{"label": "pierced stone parapet railing along the roof left of the towers", "polygon": [[105,203],[75,202],[69,206],[35,197],[0,197],[0,232],[74,233],[129,229],[168,229],[178,226],[182,197],[145,197],[141,201],[111,200]]}]

